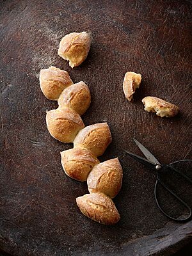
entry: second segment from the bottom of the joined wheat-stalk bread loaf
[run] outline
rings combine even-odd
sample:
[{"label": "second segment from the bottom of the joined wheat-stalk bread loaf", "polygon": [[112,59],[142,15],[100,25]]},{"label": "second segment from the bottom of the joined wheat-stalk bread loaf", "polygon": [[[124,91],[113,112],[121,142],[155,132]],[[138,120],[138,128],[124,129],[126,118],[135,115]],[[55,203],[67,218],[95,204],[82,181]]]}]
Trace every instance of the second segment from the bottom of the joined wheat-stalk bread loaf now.
[{"label": "second segment from the bottom of the joined wheat-stalk bread loaf", "polygon": [[97,164],[88,175],[90,193],[102,192],[114,198],[122,187],[123,170],[118,158]]}]

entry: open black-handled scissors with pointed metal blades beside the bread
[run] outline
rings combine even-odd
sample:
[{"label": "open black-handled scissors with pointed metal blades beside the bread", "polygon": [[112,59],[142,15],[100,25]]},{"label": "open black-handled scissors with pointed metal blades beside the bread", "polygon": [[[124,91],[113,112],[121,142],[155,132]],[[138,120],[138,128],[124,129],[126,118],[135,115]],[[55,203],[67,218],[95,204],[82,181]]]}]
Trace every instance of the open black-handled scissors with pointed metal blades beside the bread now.
[{"label": "open black-handled scissors with pointed metal blades beside the bread", "polygon": [[[125,152],[127,152],[127,154],[129,154],[129,156],[131,156],[132,158],[134,158],[135,160],[137,160],[138,162],[140,162],[141,164],[144,164],[145,166],[147,166],[148,168],[156,171],[157,174],[157,180],[156,180],[156,184],[154,187],[154,196],[155,196],[155,200],[156,200],[156,204],[159,207],[159,209],[161,210],[161,212],[163,212],[163,214],[165,216],[167,216],[168,218],[170,218],[171,220],[174,221],[188,221],[191,218],[192,215],[192,209],[191,207],[186,204],[186,202],[184,202],[178,195],[176,195],[172,189],[170,189],[166,184],[164,184],[163,180],[161,180],[159,173],[162,173],[163,170],[171,170],[173,173],[177,173],[179,174],[181,177],[183,177],[185,180],[187,180],[191,185],[192,185],[192,180],[189,179],[189,177],[187,175],[185,175],[184,173],[180,172],[179,170],[177,170],[176,168],[173,167],[173,164],[175,163],[180,163],[180,162],[185,162],[185,161],[190,161],[192,163],[191,159],[184,159],[184,160],[180,160],[180,161],[176,161],[174,163],[170,163],[170,164],[160,164],[159,161],[156,159],[156,157],[154,157],[148,150],[147,148],[145,148],[143,145],[141,145],[141,143],[139,141],[137,141],[136,139],[134,139],[134,142],[136,143],[136,145],[140,148],[141,152],[143,152],[143,154],[145,155],[146,158],[143,158],[141,156],[138,156],[136,154],[133,154],[127,150],[124,150]],[[159,204],[159,200],[157,198],[157,185],[161,184],[161,186],[163,186],[164,189],[166,189],[166,191],[168,191],[173,197],[175,197],[177,200],[180,201],[180,203],[182,205],[184,205],[188,211],[189,214],[187,217],[185,218],[174,218],[173,216],[170,216],[168,213],[166,213],[161,205]]]}]

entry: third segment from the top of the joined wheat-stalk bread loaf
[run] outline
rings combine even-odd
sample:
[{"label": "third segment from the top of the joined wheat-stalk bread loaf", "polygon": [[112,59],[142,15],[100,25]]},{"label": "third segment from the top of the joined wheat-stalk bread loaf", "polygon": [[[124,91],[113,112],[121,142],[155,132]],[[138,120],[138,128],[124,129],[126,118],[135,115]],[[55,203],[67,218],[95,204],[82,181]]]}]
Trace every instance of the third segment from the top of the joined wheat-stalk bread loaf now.
[{"label": "third segment from the top of the joined wheat-stalk bread loaf", "polygon": [[52,109],[47,112],[46,123],[51,136],[61,142],[73,142],[84,124],[81,116],[70,108]]}]

